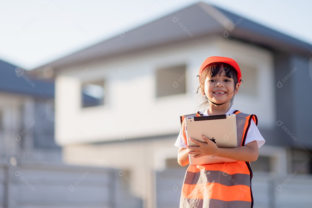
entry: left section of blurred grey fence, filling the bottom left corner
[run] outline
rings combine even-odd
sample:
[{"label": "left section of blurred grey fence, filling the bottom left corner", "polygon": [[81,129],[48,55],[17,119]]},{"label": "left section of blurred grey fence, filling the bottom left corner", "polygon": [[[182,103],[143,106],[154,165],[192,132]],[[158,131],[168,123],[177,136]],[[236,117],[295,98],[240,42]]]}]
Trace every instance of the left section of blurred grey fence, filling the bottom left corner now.
[{"label": "left section of blurred grey fence, filling the bottom left corner", "polygon": [[118,172],[98,167],[0,164],[0,208],[140,207],[139,200],[122,190]]}]

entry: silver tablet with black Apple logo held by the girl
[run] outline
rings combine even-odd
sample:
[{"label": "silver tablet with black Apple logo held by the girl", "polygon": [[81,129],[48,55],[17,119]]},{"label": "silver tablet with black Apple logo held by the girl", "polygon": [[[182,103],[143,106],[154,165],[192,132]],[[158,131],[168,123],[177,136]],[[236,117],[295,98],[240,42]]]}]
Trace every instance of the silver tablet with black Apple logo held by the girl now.
[{"label": "silver tablet with black Apple logo held by the girl", "polygon": [[[189,138],[194,138],[200,142],[205,142],[202,135],[211,139],[219,148],[236,148],[236,115],[215,115],[186,117],[186,137],[189,146],[197,146]],[[193,158],[194,155],[188,155],[190,165],[207,165],[217,163],[237,162],[237,160],[207,155],[199,158]]]}]

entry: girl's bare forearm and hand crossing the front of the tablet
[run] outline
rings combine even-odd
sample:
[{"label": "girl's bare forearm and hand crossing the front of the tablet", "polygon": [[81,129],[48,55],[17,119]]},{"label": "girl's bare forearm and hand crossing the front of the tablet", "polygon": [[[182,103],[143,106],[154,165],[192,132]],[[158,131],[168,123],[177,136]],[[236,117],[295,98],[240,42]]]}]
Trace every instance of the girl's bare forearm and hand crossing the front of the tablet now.
[{"label": "girl's bare forearm and hand crossing the front of the tablet", "polygon": [[247,143],[243,147],[237,148],[218,148],[217,145],[208,139],[206,136],[202,136],[202,139],[205,140],[207,143],[199,142],[193,138],[190,138],[192,142],[197,144],[199,147],[191,147],[186,146],[188,154],[194,155],[194,158],[202,157],[205,155],[214,155],[218,157],[226,157],[233,160],[238,161],[256,161],[259,156],[259,149],[257,141],[253,141]]}]

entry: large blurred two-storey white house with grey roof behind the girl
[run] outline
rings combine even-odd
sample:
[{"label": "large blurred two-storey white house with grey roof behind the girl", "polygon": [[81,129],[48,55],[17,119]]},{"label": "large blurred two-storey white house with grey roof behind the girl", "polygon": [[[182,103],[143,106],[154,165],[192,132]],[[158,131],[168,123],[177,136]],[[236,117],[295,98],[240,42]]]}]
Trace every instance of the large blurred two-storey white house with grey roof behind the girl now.
[{"label": "large blurred two-storey white house with grey roof behind the girl", "polygon": [[[197,3],[36,70],[55,73],[55,140],[64,162],[121,169],[143,207],[173,207],[185,171],[173,146],[179,116],[203,109],[199,66],[209,56],[235,59],[243,83],[233,107],[256,114],[266,139],[251,163],[255,203],[304,207],[312,181],[311,51],[294,37]],[[306,200],[290,201],[294,194]]]}]

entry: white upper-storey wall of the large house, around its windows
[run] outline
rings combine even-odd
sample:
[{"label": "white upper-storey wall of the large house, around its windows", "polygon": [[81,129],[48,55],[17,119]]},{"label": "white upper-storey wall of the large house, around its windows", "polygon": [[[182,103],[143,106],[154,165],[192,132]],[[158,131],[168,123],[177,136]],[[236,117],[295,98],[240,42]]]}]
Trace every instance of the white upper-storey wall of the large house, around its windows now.
[{"label": "white upper-storey wall of the large house, around its windows", "polygon": [[[233,107],[257,114],[259,126],[270,128],[275,123],[271,53],[227,38],[210,37],[124,56],[108,58],[103,54],[95,61],[59,70],[55,96],[56,142],[67,145],[177,134],[180,115],[202,110],[198,108],[201,102],[196,94],[196,76],[208,56],[229,56],[238,64],[256,67],[256,97],[238,94]],[[156,98],[154,71],[181,64],[186,65],[188,72],[187,93]],[[244,80],[244,74],[242,77]],[[81,82],[103,78],[105,105],[81,109]]]}]

